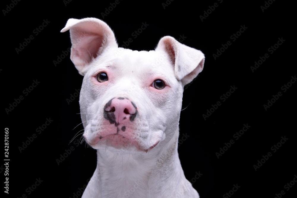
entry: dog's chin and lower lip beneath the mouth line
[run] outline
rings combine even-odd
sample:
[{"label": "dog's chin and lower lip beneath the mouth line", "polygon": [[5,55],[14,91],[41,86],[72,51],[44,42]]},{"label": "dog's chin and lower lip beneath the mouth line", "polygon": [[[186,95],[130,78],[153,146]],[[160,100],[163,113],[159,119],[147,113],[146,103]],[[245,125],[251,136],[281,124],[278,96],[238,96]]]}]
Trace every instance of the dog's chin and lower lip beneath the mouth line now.
[{"label": "dog's chin and lower lip beneath the mouth line", "polygon": [[89,141],[87,142],[94,149],[109,150],[113,153],[147,153],[159,143],[158,141],[154,145],[143,147],[140,146],[136,140],[129,140],[128,138],[119,134],[111,134],[105,137],[99,137],[99,140],[93,143]]}]

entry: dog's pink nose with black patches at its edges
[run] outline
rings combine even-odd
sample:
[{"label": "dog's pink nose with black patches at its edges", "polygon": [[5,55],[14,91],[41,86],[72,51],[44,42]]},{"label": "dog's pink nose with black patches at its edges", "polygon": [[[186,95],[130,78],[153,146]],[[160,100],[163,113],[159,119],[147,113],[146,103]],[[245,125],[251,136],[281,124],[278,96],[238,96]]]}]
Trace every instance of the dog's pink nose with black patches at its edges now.
[{"label": "dog's pink nose with black patches at its edges", "polygon": [[119,125],[127,121],[134,121],[137,115],[136,106],[127,98],[113,98],[104,107],[104,117],[111,124]]}]

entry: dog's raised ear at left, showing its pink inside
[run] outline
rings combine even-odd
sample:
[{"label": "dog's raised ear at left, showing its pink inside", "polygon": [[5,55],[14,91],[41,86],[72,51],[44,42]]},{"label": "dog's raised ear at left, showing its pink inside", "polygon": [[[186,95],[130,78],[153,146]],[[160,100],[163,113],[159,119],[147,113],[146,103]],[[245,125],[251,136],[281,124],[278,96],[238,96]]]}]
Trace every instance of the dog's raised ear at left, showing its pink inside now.
[{"label": "dog's raised ear at left, showing its pink inside", "polygon": [[61,30],[70,30],[70,59],[80,75],[85,75],[88,66],[108,47],[118,47],[116,38],[110,27],[97,18],[70,18]]}]

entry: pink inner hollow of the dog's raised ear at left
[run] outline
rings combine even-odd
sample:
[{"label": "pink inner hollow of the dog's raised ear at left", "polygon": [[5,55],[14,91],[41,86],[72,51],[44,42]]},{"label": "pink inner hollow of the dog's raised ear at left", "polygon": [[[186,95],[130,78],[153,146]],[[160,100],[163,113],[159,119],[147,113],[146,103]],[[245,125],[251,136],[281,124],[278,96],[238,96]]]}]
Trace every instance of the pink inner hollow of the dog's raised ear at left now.
[{"label": "pink inner hollow of the dog's raised ear at left", "polygon": [[73,46],[73,59],[90,63],[97,57],[97,52],[102,47],[102,37],[98,34],[87,34],[81,38],[77,45]]}]

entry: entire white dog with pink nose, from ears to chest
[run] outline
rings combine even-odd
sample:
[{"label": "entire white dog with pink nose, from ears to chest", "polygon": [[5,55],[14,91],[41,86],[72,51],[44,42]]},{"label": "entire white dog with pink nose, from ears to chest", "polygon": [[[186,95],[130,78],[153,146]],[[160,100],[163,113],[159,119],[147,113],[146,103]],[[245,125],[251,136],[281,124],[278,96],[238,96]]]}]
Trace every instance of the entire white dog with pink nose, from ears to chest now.
[{"label": "entire white dog with pink nose, from ears to chest", "polygon": [[96,18],[69,19],[71,60],[84,76],[80,112],[97,168],[83,198],[199,197],[178,158],[184,85],[203,69],[201,51],[163,37],[153,51],[118,47]]}]

